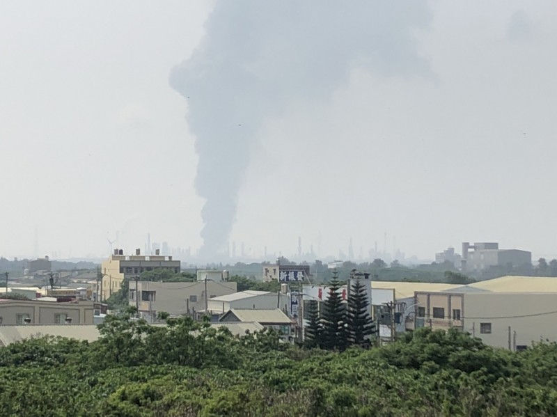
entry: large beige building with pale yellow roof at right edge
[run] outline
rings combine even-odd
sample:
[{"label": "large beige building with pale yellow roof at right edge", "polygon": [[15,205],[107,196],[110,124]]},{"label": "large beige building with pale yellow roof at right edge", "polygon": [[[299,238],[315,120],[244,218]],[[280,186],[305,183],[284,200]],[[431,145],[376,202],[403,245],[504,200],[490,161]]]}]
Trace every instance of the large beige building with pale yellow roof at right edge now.
[{"label": "large beige building with pale yellow roof at right edge", "polygon": [[456,327],[513,351],[557,342],[557,278],[503,276],[446,292],[416,292],[416,328]]}]

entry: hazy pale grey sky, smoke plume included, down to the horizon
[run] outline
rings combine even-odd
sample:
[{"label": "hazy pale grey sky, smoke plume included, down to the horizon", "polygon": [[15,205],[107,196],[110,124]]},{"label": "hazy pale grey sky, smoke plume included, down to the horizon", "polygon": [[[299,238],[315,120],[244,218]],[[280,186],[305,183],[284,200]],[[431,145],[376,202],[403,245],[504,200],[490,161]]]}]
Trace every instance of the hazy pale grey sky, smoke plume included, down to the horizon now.
[{"label": "hazy pale grey sky, smoke plume included, down to the horizon", "polygon": [[1,2],[0,255],[557,256],[557,3],[279,3]]}]

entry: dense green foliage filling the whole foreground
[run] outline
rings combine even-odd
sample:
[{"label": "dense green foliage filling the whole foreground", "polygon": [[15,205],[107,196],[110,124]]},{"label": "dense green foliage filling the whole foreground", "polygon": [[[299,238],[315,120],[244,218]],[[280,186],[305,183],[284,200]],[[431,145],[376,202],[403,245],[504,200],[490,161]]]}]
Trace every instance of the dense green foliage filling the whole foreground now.
[{"label": "dense green foliage filling the whole foreground", "polygon": [[0,348],[1,416],[554,416],[557,345],[492,349],[457,330],[299,349],[188,318],[107,319],[95,343]]}]

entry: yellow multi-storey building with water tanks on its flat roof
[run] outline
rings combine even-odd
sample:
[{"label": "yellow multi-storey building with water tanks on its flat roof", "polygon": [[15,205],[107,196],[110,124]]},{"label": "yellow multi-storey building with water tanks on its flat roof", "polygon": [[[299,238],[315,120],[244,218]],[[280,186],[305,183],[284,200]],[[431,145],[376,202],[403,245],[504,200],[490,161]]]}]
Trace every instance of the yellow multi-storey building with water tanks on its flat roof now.
[{"label": "yellow multi-storey building with water tanks on its flat roof", "polygon": [[[136,250],[136,255],[124,255],[122,249],[114,249],[113,255],[108,260],[104,260],[101,265],[102,280],[100,288],[98,288],[99,301],[104,301],[114,292],[118,292],[125,279],[134,279],[142,272],[162,268],[178,273],[180,272],[180,261],[173,260],[172,256],[141,255],[139,250]],[[97,300],[95,299],[95,301]]]}]

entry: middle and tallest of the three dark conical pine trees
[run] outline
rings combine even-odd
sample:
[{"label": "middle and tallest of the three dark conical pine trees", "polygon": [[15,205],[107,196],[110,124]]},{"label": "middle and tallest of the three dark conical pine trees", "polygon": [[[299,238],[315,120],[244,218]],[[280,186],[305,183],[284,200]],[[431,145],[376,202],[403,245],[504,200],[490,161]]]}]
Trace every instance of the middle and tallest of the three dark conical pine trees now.
[{"label": "middle and tallest of the three dark conical pine trees", "polygon": [[329,281],[329,294],[323,303],[322,317],[322,348],[328,350],[344,350],[346,338],[346,308],[340,297],[340,281],[336,270]]}]

